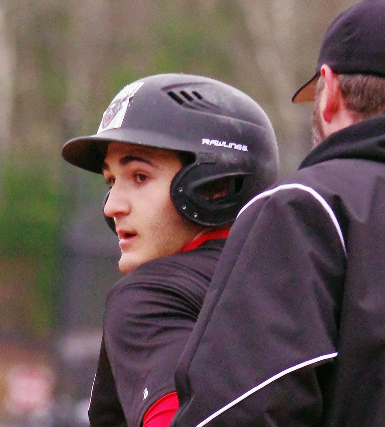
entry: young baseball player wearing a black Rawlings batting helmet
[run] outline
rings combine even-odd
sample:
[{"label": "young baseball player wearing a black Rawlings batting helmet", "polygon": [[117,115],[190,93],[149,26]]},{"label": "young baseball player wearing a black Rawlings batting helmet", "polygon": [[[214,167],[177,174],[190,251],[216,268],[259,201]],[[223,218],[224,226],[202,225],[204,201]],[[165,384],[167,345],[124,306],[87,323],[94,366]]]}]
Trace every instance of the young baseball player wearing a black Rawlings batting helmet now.
[{"label": "young baseball player wearing a black Rawlings batting helmet", "polygon": [[228,228],[276,178],[273,129],[237,89],[164,74],[123,88],[97,134],[69,141],[62,154],[104,175],[104,214],[125,274],[106,301],[91,427],[168,426],[176,363]]}]

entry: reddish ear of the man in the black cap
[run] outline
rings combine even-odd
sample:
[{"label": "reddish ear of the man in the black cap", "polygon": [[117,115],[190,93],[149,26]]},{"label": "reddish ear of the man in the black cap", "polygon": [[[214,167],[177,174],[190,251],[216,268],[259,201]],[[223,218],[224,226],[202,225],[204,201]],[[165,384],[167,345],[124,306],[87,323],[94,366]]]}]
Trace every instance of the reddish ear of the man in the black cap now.
[{"label": "reddish ear of the man in the black cap", "polygon": [[330,123],[335,114],[338,113],[342,94],[338,74],[333,73],[333,70],[326,64],[323,64],[320,73],[324,82],[323,96],[325,99],[325,104],[321,110],[321,114],[326,123]]}]

